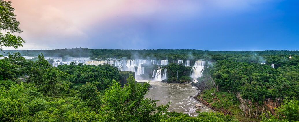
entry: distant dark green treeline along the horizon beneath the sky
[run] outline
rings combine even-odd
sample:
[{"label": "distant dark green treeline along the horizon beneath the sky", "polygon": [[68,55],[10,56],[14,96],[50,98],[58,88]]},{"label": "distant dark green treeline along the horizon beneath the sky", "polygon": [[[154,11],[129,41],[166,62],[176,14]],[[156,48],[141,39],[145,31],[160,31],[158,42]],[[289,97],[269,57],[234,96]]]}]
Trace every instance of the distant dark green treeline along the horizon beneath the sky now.
[{"label": "distant dark green treeline along the horizon beneath the sky", "polygon": [[118,50],[118,49],[90,49],[70,48],[56,50],[4,50],[2,55],[7,56],[8,52],[20,52],[22,56],[37,56],[43,53],[45,56],[71,56],[91,57],[95,60],[106,58],[130,58],[130,59],[168,59],[168,60],[192,60],[203,59],[208,56],[221,55],[299,55],[298,50],[263,50],[263,51],[212,51],[212,50],[190,50],[190,49],[157,49],[157,50]]}]

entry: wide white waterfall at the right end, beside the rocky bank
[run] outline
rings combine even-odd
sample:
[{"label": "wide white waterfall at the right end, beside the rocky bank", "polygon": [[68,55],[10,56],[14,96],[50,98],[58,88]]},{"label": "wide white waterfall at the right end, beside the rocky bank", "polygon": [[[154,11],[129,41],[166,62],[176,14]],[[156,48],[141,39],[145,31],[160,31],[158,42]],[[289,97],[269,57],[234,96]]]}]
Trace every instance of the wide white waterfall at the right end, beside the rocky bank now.
[{"label": "wide white waterfall at the right end, beside the rocky bank", "polygon": [[195,61],[194,67],[192,67],[192,77],[193,79],[197,79],[198,77],[202,77],[202,71],[205,68],[205,61],[197,60]]}]

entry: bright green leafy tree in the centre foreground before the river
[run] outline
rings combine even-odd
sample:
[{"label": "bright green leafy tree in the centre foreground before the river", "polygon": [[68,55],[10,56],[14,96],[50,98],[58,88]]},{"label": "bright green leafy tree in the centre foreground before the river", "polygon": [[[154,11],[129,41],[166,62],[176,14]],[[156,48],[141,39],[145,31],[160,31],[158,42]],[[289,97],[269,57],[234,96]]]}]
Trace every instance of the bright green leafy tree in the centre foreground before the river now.
[{"label": "bright green leafy tree in the centre foreground before the river", "polygon": [[157,116],[167,111],[168,105],[158,106],[156,100],[144,98],[149,83],[135,83],[131,75],[128,85],[123,88],[118,82],[113,83],[103,96],[106,121],[155,121]]}]

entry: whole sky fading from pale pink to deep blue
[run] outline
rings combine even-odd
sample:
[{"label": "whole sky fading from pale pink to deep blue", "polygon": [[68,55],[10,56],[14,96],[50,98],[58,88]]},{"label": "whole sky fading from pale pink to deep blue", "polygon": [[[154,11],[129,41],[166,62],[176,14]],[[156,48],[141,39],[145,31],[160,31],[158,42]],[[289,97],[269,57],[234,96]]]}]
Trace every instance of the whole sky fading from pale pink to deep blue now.
[{"label": "whole sky fading from pale pink to deep blue", "polygon": [[298,0],[11,0],[18,49],[299,50]]}]

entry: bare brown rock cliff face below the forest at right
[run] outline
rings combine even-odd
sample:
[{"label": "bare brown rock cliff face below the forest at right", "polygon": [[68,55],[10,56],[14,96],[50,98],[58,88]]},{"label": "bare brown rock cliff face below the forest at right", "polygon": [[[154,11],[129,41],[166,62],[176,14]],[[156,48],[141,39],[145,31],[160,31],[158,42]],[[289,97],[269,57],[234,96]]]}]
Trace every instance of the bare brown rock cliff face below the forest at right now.
[{"label": "bare brown rock cliff face below the forest at right", "polygon": [[239,108],[244,112],[244,116],[252,118],[258,118],[259,115],[267,113],[267,111],[274,114],[274,108],[279,107],[281,101],[280,98],[276,100],[268,98],[265,100],[263,105],[260,105],[257,102],[253,103],[251,100],[243,99],[239,92],[237,92],[237,98],[241,103]]}]

